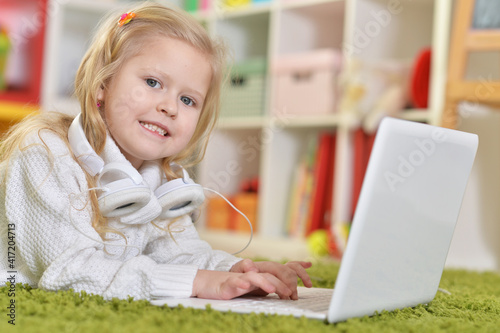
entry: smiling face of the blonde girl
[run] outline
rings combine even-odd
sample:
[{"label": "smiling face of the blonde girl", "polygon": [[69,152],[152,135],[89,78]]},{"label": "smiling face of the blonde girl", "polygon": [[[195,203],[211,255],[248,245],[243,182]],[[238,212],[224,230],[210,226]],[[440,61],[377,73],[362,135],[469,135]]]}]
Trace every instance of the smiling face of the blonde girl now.
[{"label": "smiling face of the blonde girl", "polygon": [[99,91],[109,133],[135,168],[187,146],[211,78],[203,53],[184,41],[159,37]]}]

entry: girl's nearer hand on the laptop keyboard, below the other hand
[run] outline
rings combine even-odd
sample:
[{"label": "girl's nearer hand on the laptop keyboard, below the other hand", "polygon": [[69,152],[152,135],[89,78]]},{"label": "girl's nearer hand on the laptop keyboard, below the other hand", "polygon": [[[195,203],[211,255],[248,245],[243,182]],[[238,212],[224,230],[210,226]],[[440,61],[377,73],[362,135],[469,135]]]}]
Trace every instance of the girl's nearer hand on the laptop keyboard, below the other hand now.
[{"label": "girl's nearer hand on the laptop keyboard, below the other hand", "polygon": [[293,290],[270,273],[198,270],[192,296],[226,300],[256,290],[262,290],[266,294],[276,293],[281,299],[290,299],[293,295]]}]

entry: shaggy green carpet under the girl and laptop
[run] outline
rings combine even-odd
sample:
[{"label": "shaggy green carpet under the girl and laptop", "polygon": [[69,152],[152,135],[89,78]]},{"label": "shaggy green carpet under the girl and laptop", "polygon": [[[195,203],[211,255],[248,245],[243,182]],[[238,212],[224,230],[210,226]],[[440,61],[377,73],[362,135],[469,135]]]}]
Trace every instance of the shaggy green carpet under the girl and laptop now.
[{"label": "shaggy green carpet under the girl and laptop", "polygon": [[[309,270],[316,287],[333,287],[338,265]],[[46,292],[16,285],[15,326],[7,308],[8,287],[0,288],[0,332],[500,332],[500,274],[447,270],[429,305],[383,312],[329,325],[285,316],[239,315],[184,308],[160,308],[146,301],[104,301],[72,291]]]}]

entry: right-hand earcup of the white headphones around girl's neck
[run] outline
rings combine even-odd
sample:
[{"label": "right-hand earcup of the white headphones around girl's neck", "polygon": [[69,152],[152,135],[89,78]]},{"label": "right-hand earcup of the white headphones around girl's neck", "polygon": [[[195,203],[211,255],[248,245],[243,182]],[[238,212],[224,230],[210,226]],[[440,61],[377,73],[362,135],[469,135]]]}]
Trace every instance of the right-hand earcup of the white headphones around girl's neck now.
[{"label": "right-hand earcup of the white headphones around girl's neck", "polygon": [[155,191],[155,196],[162,206],[161,218],[175,218],[190,214],[205,201],[203,187],[184,179],[171,180]]}]

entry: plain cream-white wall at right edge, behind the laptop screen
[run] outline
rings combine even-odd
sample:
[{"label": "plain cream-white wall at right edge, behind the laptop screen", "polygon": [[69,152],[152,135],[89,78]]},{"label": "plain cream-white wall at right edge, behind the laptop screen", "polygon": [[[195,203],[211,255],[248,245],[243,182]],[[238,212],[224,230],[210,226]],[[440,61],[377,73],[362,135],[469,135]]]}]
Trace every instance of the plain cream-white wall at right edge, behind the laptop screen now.
[{"label": "plain cream-white wall at right edge, behind the laptop screen", "polygon": [[447,267],[500,271],[500,110],[464,104],[458,129],[479,135],[479,149]]}]

